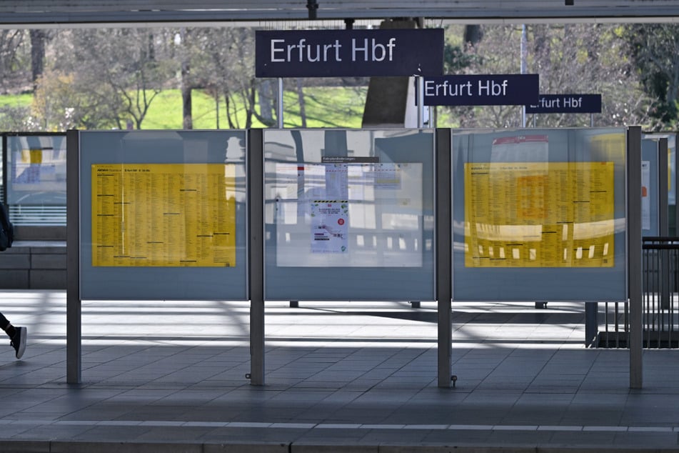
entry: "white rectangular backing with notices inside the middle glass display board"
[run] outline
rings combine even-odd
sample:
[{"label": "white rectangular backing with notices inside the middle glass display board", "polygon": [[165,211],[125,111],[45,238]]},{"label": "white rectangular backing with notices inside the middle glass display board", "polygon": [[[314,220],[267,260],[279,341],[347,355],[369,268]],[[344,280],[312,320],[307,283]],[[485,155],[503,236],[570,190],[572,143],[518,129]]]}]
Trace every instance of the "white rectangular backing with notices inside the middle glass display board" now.
[{"label": "white rectangular backing with notices inside the middle glass display board", "polygon": [[421,181],[421,163],[276,163],[277,265],[421,267]]}]

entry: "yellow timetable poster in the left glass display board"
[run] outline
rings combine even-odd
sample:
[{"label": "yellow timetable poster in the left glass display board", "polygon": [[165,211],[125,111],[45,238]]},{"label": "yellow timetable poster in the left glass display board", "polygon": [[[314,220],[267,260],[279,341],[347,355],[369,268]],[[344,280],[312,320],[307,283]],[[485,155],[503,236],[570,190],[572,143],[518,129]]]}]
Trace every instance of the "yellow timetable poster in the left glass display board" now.
[{"label": "yellow timetable poster in the left glass display board", "polygon": [[235,267],[235,168],[92,165],[92,266]]}]

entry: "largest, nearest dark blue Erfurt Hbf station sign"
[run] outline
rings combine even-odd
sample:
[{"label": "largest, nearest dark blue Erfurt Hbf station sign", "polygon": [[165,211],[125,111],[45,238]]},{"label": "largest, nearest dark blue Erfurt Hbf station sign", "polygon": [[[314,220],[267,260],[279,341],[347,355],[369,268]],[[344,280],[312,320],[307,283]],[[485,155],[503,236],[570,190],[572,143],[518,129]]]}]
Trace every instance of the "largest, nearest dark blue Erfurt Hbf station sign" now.
[{"label": "largest, nearest dark blue Erfurt Hbf station sign", "polygon": [[257,77],[438,76],[443,29],[255,32]]}]

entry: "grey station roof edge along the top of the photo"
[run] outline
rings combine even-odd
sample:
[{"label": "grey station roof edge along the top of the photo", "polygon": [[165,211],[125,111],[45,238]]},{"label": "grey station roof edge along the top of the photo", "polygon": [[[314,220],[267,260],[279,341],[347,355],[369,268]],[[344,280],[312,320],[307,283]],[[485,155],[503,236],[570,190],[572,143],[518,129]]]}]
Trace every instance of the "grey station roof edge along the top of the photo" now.
[{"label": "grey station roof edge along the top of the photo", "polygon": [[306,21],[310,9],[317,21],[679,21],[679,0],[0,0],[0,27]]}]

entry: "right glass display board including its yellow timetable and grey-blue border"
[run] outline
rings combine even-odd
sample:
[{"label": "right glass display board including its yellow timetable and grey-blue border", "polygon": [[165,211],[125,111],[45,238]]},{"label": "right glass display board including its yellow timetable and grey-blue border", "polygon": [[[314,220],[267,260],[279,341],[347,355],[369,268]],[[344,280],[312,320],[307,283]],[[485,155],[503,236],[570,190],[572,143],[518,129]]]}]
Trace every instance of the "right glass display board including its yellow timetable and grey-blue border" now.
[{"label": "right glass display board including its yellow timetable and grey-blue border", "polygon": [[625,130],[453,131],[453,300],[623,300]]}]

